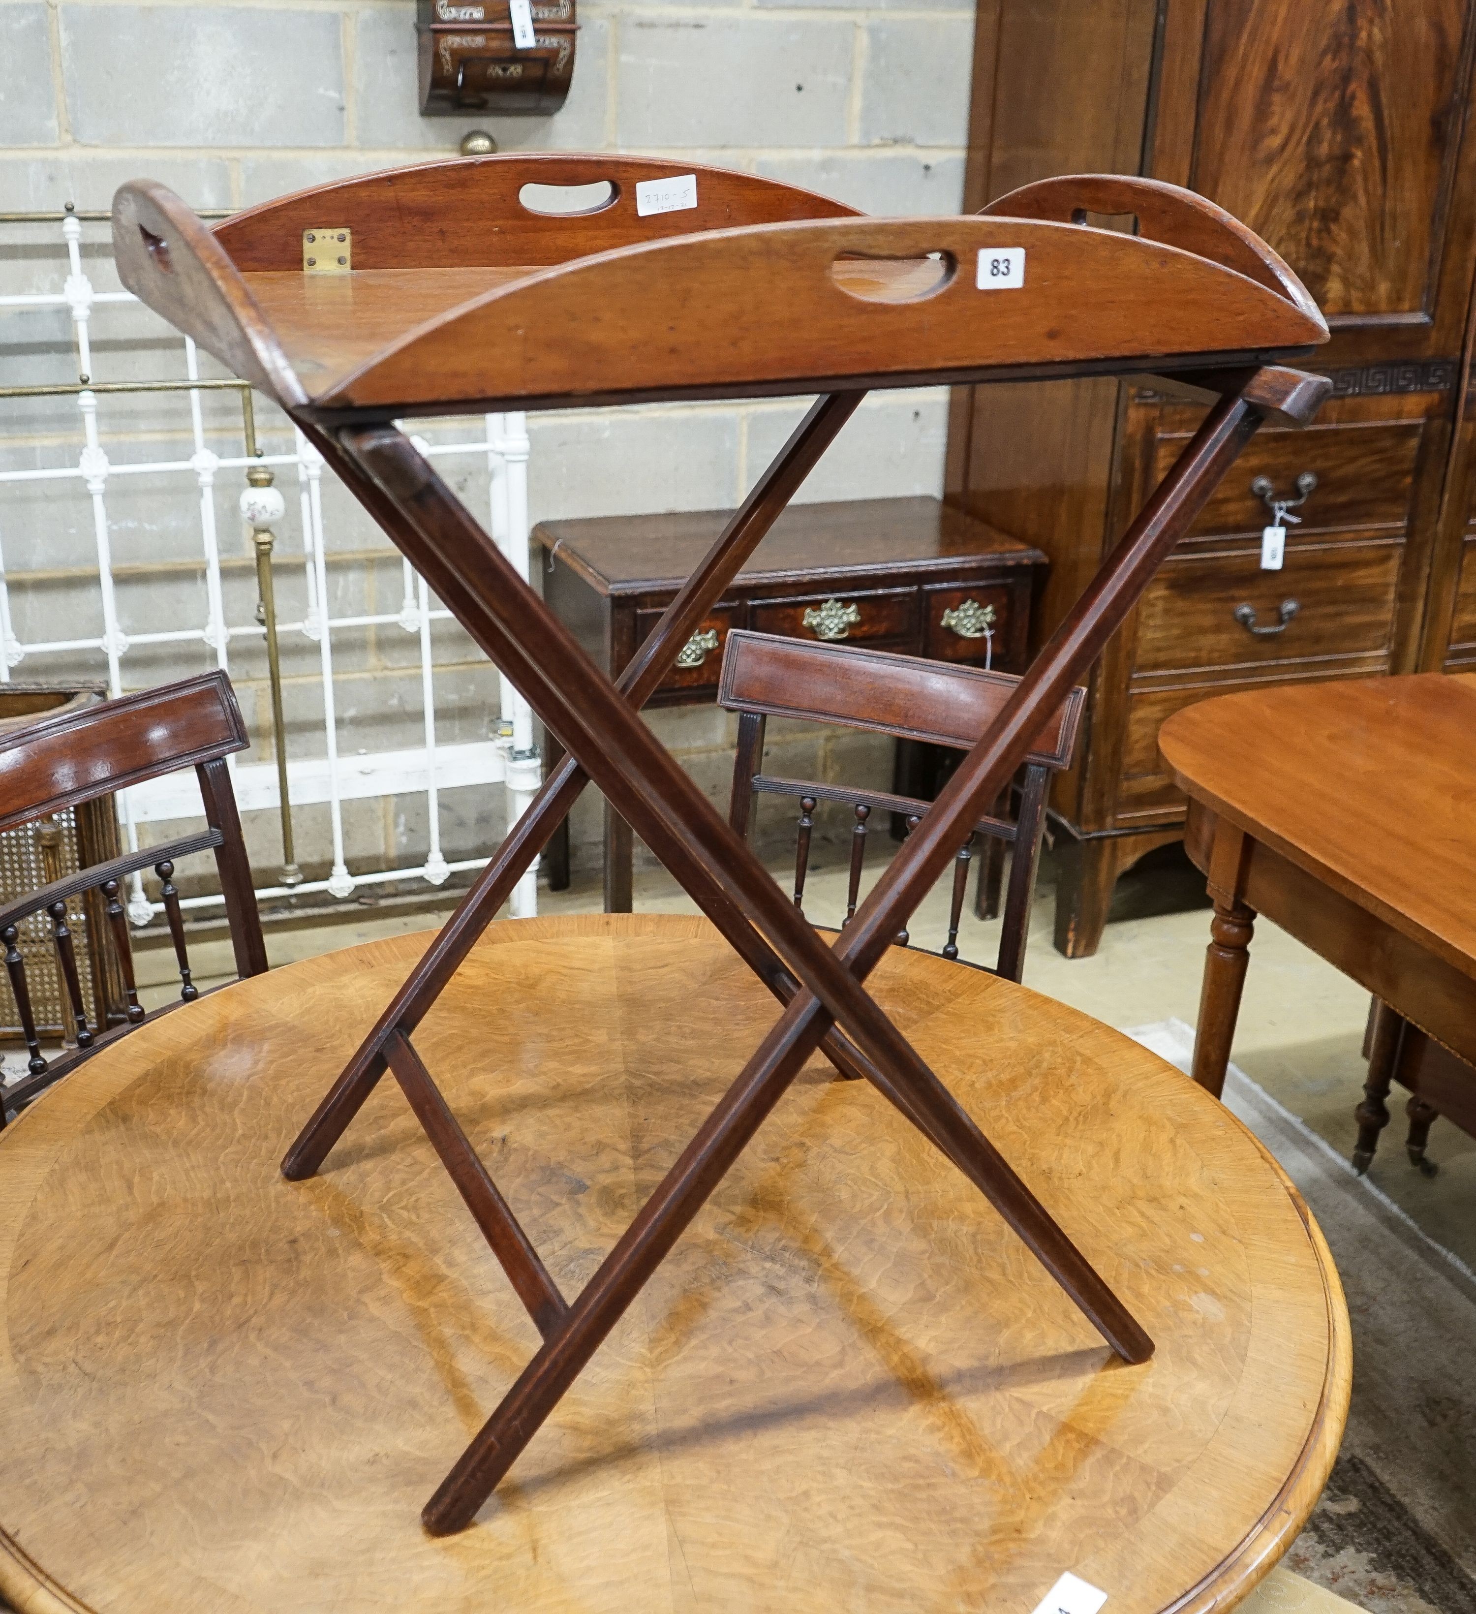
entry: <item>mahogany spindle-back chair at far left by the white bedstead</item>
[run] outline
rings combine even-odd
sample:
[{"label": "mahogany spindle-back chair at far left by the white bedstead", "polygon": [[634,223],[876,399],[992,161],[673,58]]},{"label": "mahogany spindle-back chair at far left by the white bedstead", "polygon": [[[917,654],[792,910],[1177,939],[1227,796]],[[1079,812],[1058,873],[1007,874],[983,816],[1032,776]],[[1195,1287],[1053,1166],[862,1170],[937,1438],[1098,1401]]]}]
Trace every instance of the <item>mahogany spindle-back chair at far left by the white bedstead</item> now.
[{"label": "mahogany spindle-back chair at far left by the white bedstead", "polygon": [[[242,976],[261,975],[266,970],[261,917],[256,912],[240,815],[236,810],[236,792],[231,789],[224,760],[232,751],[244,751],[248,744],[231,679],[224,673],[206,673],[203,678],[144,689],[102,705],[63,712],[0,736],[0,830],[13,830],[32,818],[58,813],[129,784],[190,767],[200,780],[206,823],[205,830],[177,841],[126,852],[105,863],[90,863],[0,907],[5,968],[31,1054],[27,1075],[15,1086],[0,1089],[3,1093],[0,1127],[6,1122],[6,1112],[16,1115],[100,1047],[126,1036],[145,1020],[200,996],[200,988],[190,980],[184,917],[179,909],[179,891],[174,886],[174,863],[181,857],[192,852],[215,852],[226,897],[236,970]],[[127,876],[150,867],[163,886],[165,917],[174,941],[181,981],[179,1001],[153,1010],[153,1015],[145,1014],[139,1004],[123,902],[123,883]],[[123,978],[126,1009],[116,1023],[87,1022],[73,931],[68,923],[68,904],[74,914],[74,899],[94,891],[102,896],[108,922],[105,931],[111,936]],[[45,914],[50,920],[66,1001],[76,1022],[77,1046],[50,1060],[40,1052],[26,983],[26,962],[18,946],[19,928],[34,914]],[[102,1020],[110,1018],[102,1009],[98,1014]]]}]

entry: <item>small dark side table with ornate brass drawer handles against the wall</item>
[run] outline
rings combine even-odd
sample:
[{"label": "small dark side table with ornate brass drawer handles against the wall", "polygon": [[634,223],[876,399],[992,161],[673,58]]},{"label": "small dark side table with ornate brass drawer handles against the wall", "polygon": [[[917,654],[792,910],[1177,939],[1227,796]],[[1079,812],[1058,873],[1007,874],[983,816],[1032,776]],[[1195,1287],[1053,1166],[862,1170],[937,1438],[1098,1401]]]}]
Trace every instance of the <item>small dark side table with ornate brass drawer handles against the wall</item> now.
[{"label": "small dark side table with ornate brass drawer handles against the wall", "polygon": [[[618,676],[655,628],[731,512],[544,521],[544,597],[586,652]],[[937,499],[792,505],[758,546],[650,700],[716,699],[723,644],[734,628],[795,639],[869,644],[903,655],[1021,671],[1039,549]],[[548,736],[552,767],[558,755]],[[902,781],[921,792],[915,775]],[[568,830],[550,843],[550,884],[568,884]],[[629,912],[629,828],[605,810],[605,909]]]}]

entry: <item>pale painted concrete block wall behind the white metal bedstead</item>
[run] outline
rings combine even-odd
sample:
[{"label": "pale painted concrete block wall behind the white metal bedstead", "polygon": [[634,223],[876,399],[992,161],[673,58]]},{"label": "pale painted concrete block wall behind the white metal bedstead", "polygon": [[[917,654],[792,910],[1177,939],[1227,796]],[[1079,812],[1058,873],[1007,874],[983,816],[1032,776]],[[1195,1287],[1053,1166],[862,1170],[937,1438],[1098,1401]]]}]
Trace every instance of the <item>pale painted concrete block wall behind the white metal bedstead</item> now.
[{"label": "pale painted concrete block wall behind the white metal bedstead", "polygon": [[[871,213],[949,213],[960,205],[973,10],[968,0],[581,0],[574,84],[553,118],[421,118],[416,110],[415,5],[411,0],[236,0],[224,5],[136,5],[118,0],[0,0],[0,210],[55,210],[63,202],[105,208],[113,189],[147,174],[200,208],[234,208],[324,179],[429,155],[452,155],[461,136],[487,128],[502,150],[629,150],[674,155],[768,174],[839,197]],[[0,226],[0,291],[56,289],[63,276],[55,226]],[[84,258],[98,289],[111,289],[106,226],[87,226]],[[94,318],[98,379],[181,374],[177,339],[144,312],[98,310]],[[66,310],[0,313],[0,360],[16,383],[73,381]],[[752,405],[652,407],[626,412],[537,415],[532,439],[534,520],[713,508],[742,497],[782,442],[803,400]],[[266,415],[266,412],[261,412]],[[108,400],[103,439],[115,458],[187,454],[177,397]],[[211,445],[239,454],[240,426],[227,399],[210,400]],[[286,447],[281,421],[265,418],[269,447]],[[447,426],[429,436],[465,436]],[[805,499],[936,494],[942,486],[945,395],[907,391],[874,395],[845,428]],[[63,402],[0,402],[0,465],[53,465],[73,458],[76,410]],[[468,500],[486,508],[486,479],[457,471]],[[148,479],[136,479],[142,484]],[[236,518],[239,487],[221,478],[218,523],[231,607],[242,618],[253,584]],[[24,487],[24,484],[23,484]],[[197,494],[189,479],[169,487],[110,487],[119,515],[123,558],[198,552]],[[331,504],[331,549],[344,608],[384,610],[398,587],[392,565],[356,557],[382,539],[347,500]],[[16,600],[26,599],[23,636],[53,636],[58,621],[90,610],[90,513],[81,484],[45,492],[0,487],[0,541]],[[27,589],[15,573],[47,570]],[[144,587],[145,584],[139,584]],[[163,587],[147,583],[150,591]],[[292,584],[289,584],[290,587]],[[186,565],[168,581],[171,613],[203,621],[203,578]],[[348,607],[348,597],[353,607]],[[158,596],[155,596],[156,599]],[[377,604],[376,604],[377,602]],[[124,617],[148,600],[123,597]],[[284,613],[290,604],[284,604]],[[173,623],[171,623],[173,625]],[[74,628],[73,633],[77,629]],[[63,634],[55,634],[63,636]],[[490,679],[455,631],[442,654],[457,671],[444,679],[450,738],[489,731]],[[298,654],[298,649],[303,654]],[[418,697],[408,646],[394,633],[345,644],[355,681],[350,718],[363,738],[348,749],[415,744]],[[206,650],[171,650],[126,663],[132,683],[203,667]],[[315,702],[311,646],[290,652],[289,713],[308,725]],[[242,650],[232,667],[269,755],[265,668]],[[100,657],[74,667],[58,659],[24,663],[23,676],[97,676]],[[289,718],[290,721],[290,718]],[[669,712],[653,726],[710,783],[726,792],[731,733],[715,712]],[[295,726],[295,725],[294,725]],[[790,752],[803,738],[787,736]],[[810,739],[815,767],[831,770],[844,747]],[[873,771],[884,757],[871,747]],[[798,752],[794,765],[800,765]],[[447,797],[447,855],[469,855],[502,833],[500,791]],[[465,801],[457,797],[463,796]],[[395,867],[424,852],[423,804],[361,804],[352,815],[350,862]],[[308,813],[303,860],[321,863],[326,813]],[[316,825],[316,817],[323,825]],[[419,828],[418,828],[419,826]],[[263,854],[271,825],[253,826]],[[597,804],[574,825],[576,867],[592,867]]]}]

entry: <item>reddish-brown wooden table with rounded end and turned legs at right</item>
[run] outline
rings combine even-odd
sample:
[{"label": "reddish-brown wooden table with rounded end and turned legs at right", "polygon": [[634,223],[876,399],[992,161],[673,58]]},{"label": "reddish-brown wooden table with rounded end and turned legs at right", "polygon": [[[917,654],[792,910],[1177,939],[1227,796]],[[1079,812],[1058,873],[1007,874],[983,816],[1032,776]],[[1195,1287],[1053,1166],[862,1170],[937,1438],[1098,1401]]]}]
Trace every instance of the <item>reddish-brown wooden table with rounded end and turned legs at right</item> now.
[{"label": "reddish-brown wooden table with rounded end and turned legs at right", "polygon": [[1255,923],[1271,920],[1374,997],[1360,1172],[1395,1081],[1421,1172],[1437,1117],[1476,1136],[1473,726],[1476,678],[1420,673],[1220,696],[1158,733],[1215,902],[1194,1080],[1224,1086]]}]

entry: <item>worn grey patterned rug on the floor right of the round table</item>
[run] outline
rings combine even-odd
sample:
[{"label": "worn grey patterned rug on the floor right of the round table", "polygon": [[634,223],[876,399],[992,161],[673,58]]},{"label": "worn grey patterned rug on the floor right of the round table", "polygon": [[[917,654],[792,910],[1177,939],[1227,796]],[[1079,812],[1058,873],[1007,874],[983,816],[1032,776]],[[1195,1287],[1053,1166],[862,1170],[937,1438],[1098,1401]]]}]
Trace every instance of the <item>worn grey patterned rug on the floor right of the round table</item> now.
[{"label": "worn grey patterned rug on the floor right of the round table", "polygon": [[[1128,1035],[1187,1072],[1184,1022]],[[1342,1453],[1282,1562],[1368,1614],[1476,1614],[1476,1273],[1236,1065],[1224,1099],[1321,1223],[1353,1327]]]}]

